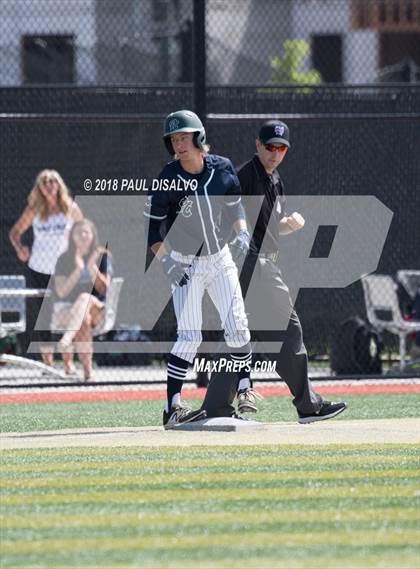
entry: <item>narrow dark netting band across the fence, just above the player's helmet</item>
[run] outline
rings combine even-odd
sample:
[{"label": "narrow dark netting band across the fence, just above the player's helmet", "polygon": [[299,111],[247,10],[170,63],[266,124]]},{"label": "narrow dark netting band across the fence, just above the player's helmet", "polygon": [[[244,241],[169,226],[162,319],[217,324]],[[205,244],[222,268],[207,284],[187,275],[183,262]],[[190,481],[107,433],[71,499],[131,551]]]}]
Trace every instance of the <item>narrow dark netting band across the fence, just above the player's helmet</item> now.
[{"label": "narrow dark netting band across the fence, just above the player's helmet", "polygon": [[[191,85],[138,87],[8,87],[0,90],[2,113],[41,115],[149,115],[193,107]],[[358,85],[298,88],[208,86],[209,114],[420,114],[420,86]],[[204,119],[203,119],[204,120]]]}]

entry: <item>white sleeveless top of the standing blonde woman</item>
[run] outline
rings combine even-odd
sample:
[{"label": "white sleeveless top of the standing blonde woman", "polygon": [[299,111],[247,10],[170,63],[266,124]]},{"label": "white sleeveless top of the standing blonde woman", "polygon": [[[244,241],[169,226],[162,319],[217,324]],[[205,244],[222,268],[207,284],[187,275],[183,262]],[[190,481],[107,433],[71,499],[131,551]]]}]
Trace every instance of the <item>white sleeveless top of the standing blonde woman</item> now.
[{"label": "white sleeveless top of the standing blonde woman", "polygon": [[34,242],[28,266],[33,271],[53,275],[58,257],[67,250],[74,221],[64,213],[53,213],[46,221],[34,217]]}]

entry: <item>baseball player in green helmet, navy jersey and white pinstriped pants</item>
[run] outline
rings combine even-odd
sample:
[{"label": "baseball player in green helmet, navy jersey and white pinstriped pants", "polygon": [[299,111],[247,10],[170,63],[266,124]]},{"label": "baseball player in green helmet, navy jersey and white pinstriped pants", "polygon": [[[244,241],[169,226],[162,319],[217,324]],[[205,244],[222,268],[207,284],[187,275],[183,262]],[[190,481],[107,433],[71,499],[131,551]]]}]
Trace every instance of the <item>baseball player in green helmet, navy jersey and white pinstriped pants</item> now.
[{"label": "baseball player in green helmet, navy jersey and white pinstriped pants", "polygon": [[[250,333],[232,258],[243,259],[250,243],[236,172],[230,160],[209,154],[203,124],[191,111],[168,115],[163,140],[175,160],[160,173],[158,189],[150,193],[144,215],[149,220],[148,244],[172,285],[177,318],[163,413],[163,425],[169,429],[205,417],[205,411],[193,411],[181,402],[188,366],[202,341],[205,291],[219,312],[231,358],[240,368],[236,385],[239,410],[256,411],[258,395],[249,376]],[[163,243],[162,223],[171,250],[166,241]],[[236,237],[229,249],[232,225]]]}]

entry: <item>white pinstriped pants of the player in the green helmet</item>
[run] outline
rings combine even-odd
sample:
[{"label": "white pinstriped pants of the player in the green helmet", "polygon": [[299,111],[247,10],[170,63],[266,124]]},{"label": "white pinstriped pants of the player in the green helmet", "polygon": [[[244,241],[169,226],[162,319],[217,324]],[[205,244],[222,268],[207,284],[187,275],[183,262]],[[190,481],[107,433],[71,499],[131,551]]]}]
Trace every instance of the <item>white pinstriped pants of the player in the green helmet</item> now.
[{"label": "white pinstriped pants of the player in the green helmet", "polygon": [[191,265],[190,280],[182,287],[172,287],[178,337],[171,354],[193,362],[202,342],[203,296],[207,290],[220,316],[226,344],[231,348],[245,346],[251,335],[239,284],[238,269],[229,247],[205,257],[185,256],[172,251],[175,261]]}]

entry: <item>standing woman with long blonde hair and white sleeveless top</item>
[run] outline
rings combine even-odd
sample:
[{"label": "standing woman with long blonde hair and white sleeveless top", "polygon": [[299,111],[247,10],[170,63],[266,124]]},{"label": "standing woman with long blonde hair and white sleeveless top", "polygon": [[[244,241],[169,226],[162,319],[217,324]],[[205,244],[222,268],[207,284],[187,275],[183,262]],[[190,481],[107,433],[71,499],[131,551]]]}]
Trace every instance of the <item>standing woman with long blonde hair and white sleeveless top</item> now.
[{"label": "standing woman with long blonde hair and white sleeveless top", "polygon": [[[10,241],[16,255],[27,263],[26,286],[29,288],[48,288],[54,275],[58,257],[67,249],[71,227],[83,218],[79,206],[72,200],[68,187],[56,170],[42,170],[36,177],[34,187],[28,196],[28,205],[10,230]],[[29,228],[33,230],[33,244],[30,249],[21,241]],[[47,303],[42,330],[34,332],[42,302]],[[44,305],[45,306],[45,305]],[[43,362],[53,365],[54,348],[48,331],[51,316],[51,301],[46,298],[28,300],[26,339],[41,342]],[[27,346],[26,346],[27,347]],[[63,357],[65,372],[74,373],[71,354]]]}]

